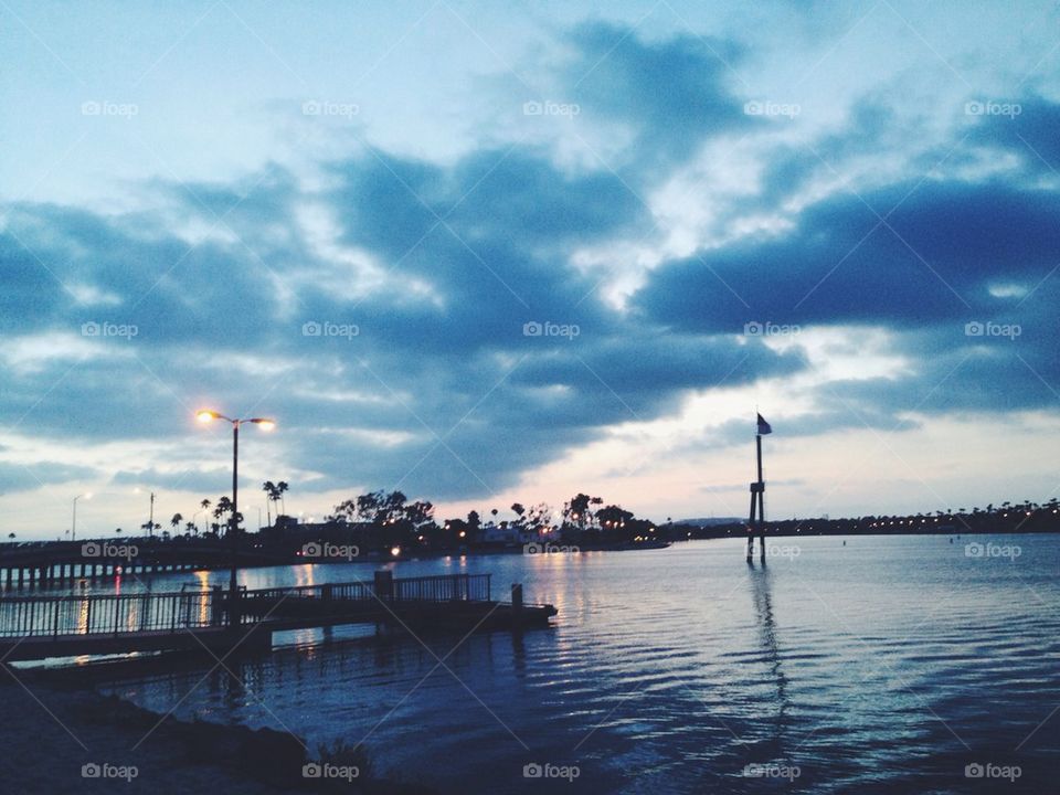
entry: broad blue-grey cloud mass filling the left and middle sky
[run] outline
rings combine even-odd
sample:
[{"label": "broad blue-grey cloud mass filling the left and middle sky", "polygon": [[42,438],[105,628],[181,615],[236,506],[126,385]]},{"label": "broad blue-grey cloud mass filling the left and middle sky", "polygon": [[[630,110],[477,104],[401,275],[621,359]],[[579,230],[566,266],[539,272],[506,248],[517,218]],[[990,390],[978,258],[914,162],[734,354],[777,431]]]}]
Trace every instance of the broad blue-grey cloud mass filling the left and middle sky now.
[{"label": "broad blue-grey cloud mass filling the left and middle sky", "polygon": [[[381,157],[332,165],[338,184],[322,195],[299,197],[275,173],[254,189],[259,200],[236,187],[171,192],[201,223],[227,213],[245,244],[192,246],[159,219],[76,211],[66,224],[60,208],[19,208],[12,233],[59,279],[119,301],[84,306],[54,292],[20,331],[77,337],[94,320],[137,333],[93,338],[18,373],[11,402],[32,410],[38,433],[107,439],[187,435],[174,417],[203,398],[241,413],[262,406],[282,417],[288,463],[320,474],[306,490],[400,484],[456,498],[504,488],[610,423],[671,411],[689,390],[799,367],[730,337],[671,337],[600,300],[596,277],[570,265],[572,247],[646,223],[614,176],[572,176],[527,151],[479,152],[446,169]],[[262,212],[237,212],[240,197]],[[293,208],[303,199],[329,203],[343,242],[378,263],[384,287],[357,298],[352,272],[305,277],[333,271],[299,246]],[[20,248],[7,242],[13,257]],[[312,335],[306,324],[356,332]],[[528,335],[527,324],[576,333]]]}]

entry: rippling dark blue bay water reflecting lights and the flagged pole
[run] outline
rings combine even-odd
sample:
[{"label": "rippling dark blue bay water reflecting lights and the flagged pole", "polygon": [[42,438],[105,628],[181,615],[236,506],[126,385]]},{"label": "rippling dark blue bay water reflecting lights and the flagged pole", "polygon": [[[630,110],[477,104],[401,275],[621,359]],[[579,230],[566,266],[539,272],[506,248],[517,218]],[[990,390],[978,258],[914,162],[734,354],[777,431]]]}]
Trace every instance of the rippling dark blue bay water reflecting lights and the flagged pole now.
[{"label": "rippling dark blue bay water reflecting lights and the flagged pole", "polygon": [[[1053,791],[1060,539],[976,539],[1016,558],[968,556],[967,539],[946,537],[842,541],[780,539],[764,568],[736,540],[401,562],[396,576],[492,572],[495,594],[522,582],[528,601],[559,608],[554,629],[289,649],[230,664],[242,683],[191,671],[113,689],[183,718],[288,729],[312,749],[363,741],[378,772],[443,793]],[[533,763],[579,775],[524,777]],[[1020,775],[969,778],[971,764]]]}]

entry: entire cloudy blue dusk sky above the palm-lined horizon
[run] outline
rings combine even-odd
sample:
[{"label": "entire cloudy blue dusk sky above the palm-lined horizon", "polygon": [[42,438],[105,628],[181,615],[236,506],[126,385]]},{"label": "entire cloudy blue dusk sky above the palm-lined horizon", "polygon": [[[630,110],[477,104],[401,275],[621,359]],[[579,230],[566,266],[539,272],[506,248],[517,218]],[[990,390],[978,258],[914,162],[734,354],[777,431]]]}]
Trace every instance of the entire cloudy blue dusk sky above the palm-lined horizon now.
[{"label": "entire cloudy blue dusk sky above the palm-lined horizon", "polygon": [[0,533],[1060,490],[1054,2],[0,0]]}]

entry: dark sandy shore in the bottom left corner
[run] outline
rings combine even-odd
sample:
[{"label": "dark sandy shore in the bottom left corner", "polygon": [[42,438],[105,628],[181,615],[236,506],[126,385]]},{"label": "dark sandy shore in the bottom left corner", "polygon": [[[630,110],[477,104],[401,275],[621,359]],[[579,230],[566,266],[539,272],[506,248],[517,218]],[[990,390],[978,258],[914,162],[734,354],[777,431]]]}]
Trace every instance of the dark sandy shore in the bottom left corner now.
[{"label": "dark sandy shore in the bottom left corner", "polygon": [[[18,678],[15,678],[18,677]],[[0,667],[0,793],[414,793],[332,767],[303,776],[300,739],[163,718],[91,689]],[[309,754],[310,756],[312,754]],[[360,772],[359,772],[360,773]]]}]

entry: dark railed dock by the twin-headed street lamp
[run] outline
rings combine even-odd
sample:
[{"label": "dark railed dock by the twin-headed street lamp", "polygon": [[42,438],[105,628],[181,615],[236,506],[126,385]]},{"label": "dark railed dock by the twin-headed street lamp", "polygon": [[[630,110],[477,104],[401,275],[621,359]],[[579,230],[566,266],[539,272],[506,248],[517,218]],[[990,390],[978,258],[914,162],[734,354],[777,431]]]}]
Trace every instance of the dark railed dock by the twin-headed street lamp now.
[{"label": "dark railed dock by the twin-headed street lamp", "polygon": [[[205,591],[0,598],[0,661],[169,650],[267,650],[274,632],[375,624],[400,629],[548,626],[555,607],[494,601],[489,574]],[[234,610],[232,607],[234,606]]]}]

